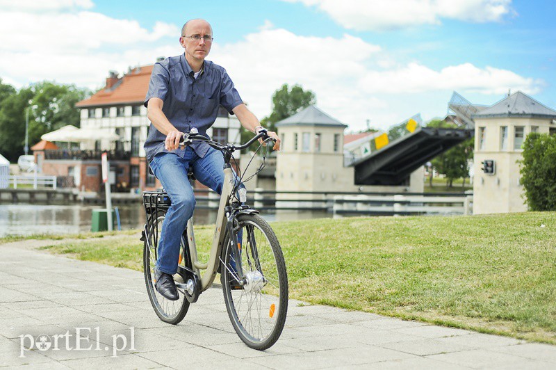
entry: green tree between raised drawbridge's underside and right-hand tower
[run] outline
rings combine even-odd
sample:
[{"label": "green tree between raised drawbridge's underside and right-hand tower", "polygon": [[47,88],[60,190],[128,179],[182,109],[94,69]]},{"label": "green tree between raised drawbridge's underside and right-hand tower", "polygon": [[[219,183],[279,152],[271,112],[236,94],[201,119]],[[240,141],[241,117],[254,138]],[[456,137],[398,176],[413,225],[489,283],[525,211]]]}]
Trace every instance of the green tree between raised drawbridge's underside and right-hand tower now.
[{"label": "green tree between raised drawbridge's underside and right-hand tower", "polygon": [[[432,120],[427,127],[435,128],[457,128],[455,124],[445,122],[444,120]],[[432,167],[437,172],[445,175],[446,185],[452,187],[454,179],[460,177],[465,179],[469,175],[468,160],[473,158],[473,138],[465,140],[463,143],[450,148],[439,156],[432,159]],[[430,171],[430,186],[432,186],[432,171]]]}]

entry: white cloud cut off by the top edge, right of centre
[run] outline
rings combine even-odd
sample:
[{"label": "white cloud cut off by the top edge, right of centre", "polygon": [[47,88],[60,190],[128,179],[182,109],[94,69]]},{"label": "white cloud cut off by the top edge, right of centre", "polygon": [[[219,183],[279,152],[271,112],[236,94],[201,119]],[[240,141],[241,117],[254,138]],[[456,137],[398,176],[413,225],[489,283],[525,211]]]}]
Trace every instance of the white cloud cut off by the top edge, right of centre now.
[{"label": "white cloud cut off by the top edge, right of centre", "polygon": [[440,24],[441,19],[498,22],[515,14],[512,0],[283,0],[316,6],[347,29],[384,31]]}]

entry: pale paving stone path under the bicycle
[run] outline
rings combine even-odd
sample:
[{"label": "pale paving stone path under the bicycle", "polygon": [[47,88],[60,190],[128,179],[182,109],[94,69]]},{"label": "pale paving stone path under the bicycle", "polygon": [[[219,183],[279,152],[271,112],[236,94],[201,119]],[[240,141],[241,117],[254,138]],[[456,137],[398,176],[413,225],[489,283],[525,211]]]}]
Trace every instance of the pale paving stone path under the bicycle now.
[{"label": "pale paving stone path under the bicycle", "polygon": [[[169,325],[154,313],[142,273],[36,249],[52,243],[0,245],[0,367],[556,369],[556,346],[297,300],[277,344],[254,351],[231,327],[220,289]],[[22,338],[33,351],[22,351]]]}]

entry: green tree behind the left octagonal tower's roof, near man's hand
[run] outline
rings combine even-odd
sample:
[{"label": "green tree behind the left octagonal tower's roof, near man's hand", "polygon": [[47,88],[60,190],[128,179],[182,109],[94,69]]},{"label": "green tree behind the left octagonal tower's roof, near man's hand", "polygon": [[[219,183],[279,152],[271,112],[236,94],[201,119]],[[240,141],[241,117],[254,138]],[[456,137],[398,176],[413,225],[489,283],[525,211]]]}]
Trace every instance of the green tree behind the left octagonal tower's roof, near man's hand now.
[{"label": "green tree behind the left octagonal tower's roof, near man's hand", "polygon": [[[288,84],[284,83],[272,95],[272,113],[261,120],[261,125],[270,131],[276,131],[276,122],[284,120],[313,104],[316,104],[316,95],[311,90],[305,91],[297,84],[289,88]],[[252,138],[252,134],[243,129],[241,141],[245,143],[250,138]],[[256,147],[258,145],[255,143],[250,149],[255,150]]]}]

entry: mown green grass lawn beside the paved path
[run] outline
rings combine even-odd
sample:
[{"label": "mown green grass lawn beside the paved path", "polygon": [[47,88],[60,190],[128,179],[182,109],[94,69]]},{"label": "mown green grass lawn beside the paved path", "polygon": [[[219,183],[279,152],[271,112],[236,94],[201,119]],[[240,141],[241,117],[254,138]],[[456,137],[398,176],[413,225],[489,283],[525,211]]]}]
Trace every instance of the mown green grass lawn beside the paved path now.
[{"label": "mown green grass lawn beside the paved path", "polygon": [[[542,226],[544,225],[544,227]],[[273,223],[290,297],[556,344],[556,212]],[[195,237],[206,258],[211,227]],[[137,235],[48,247],[141,270]]]}]

